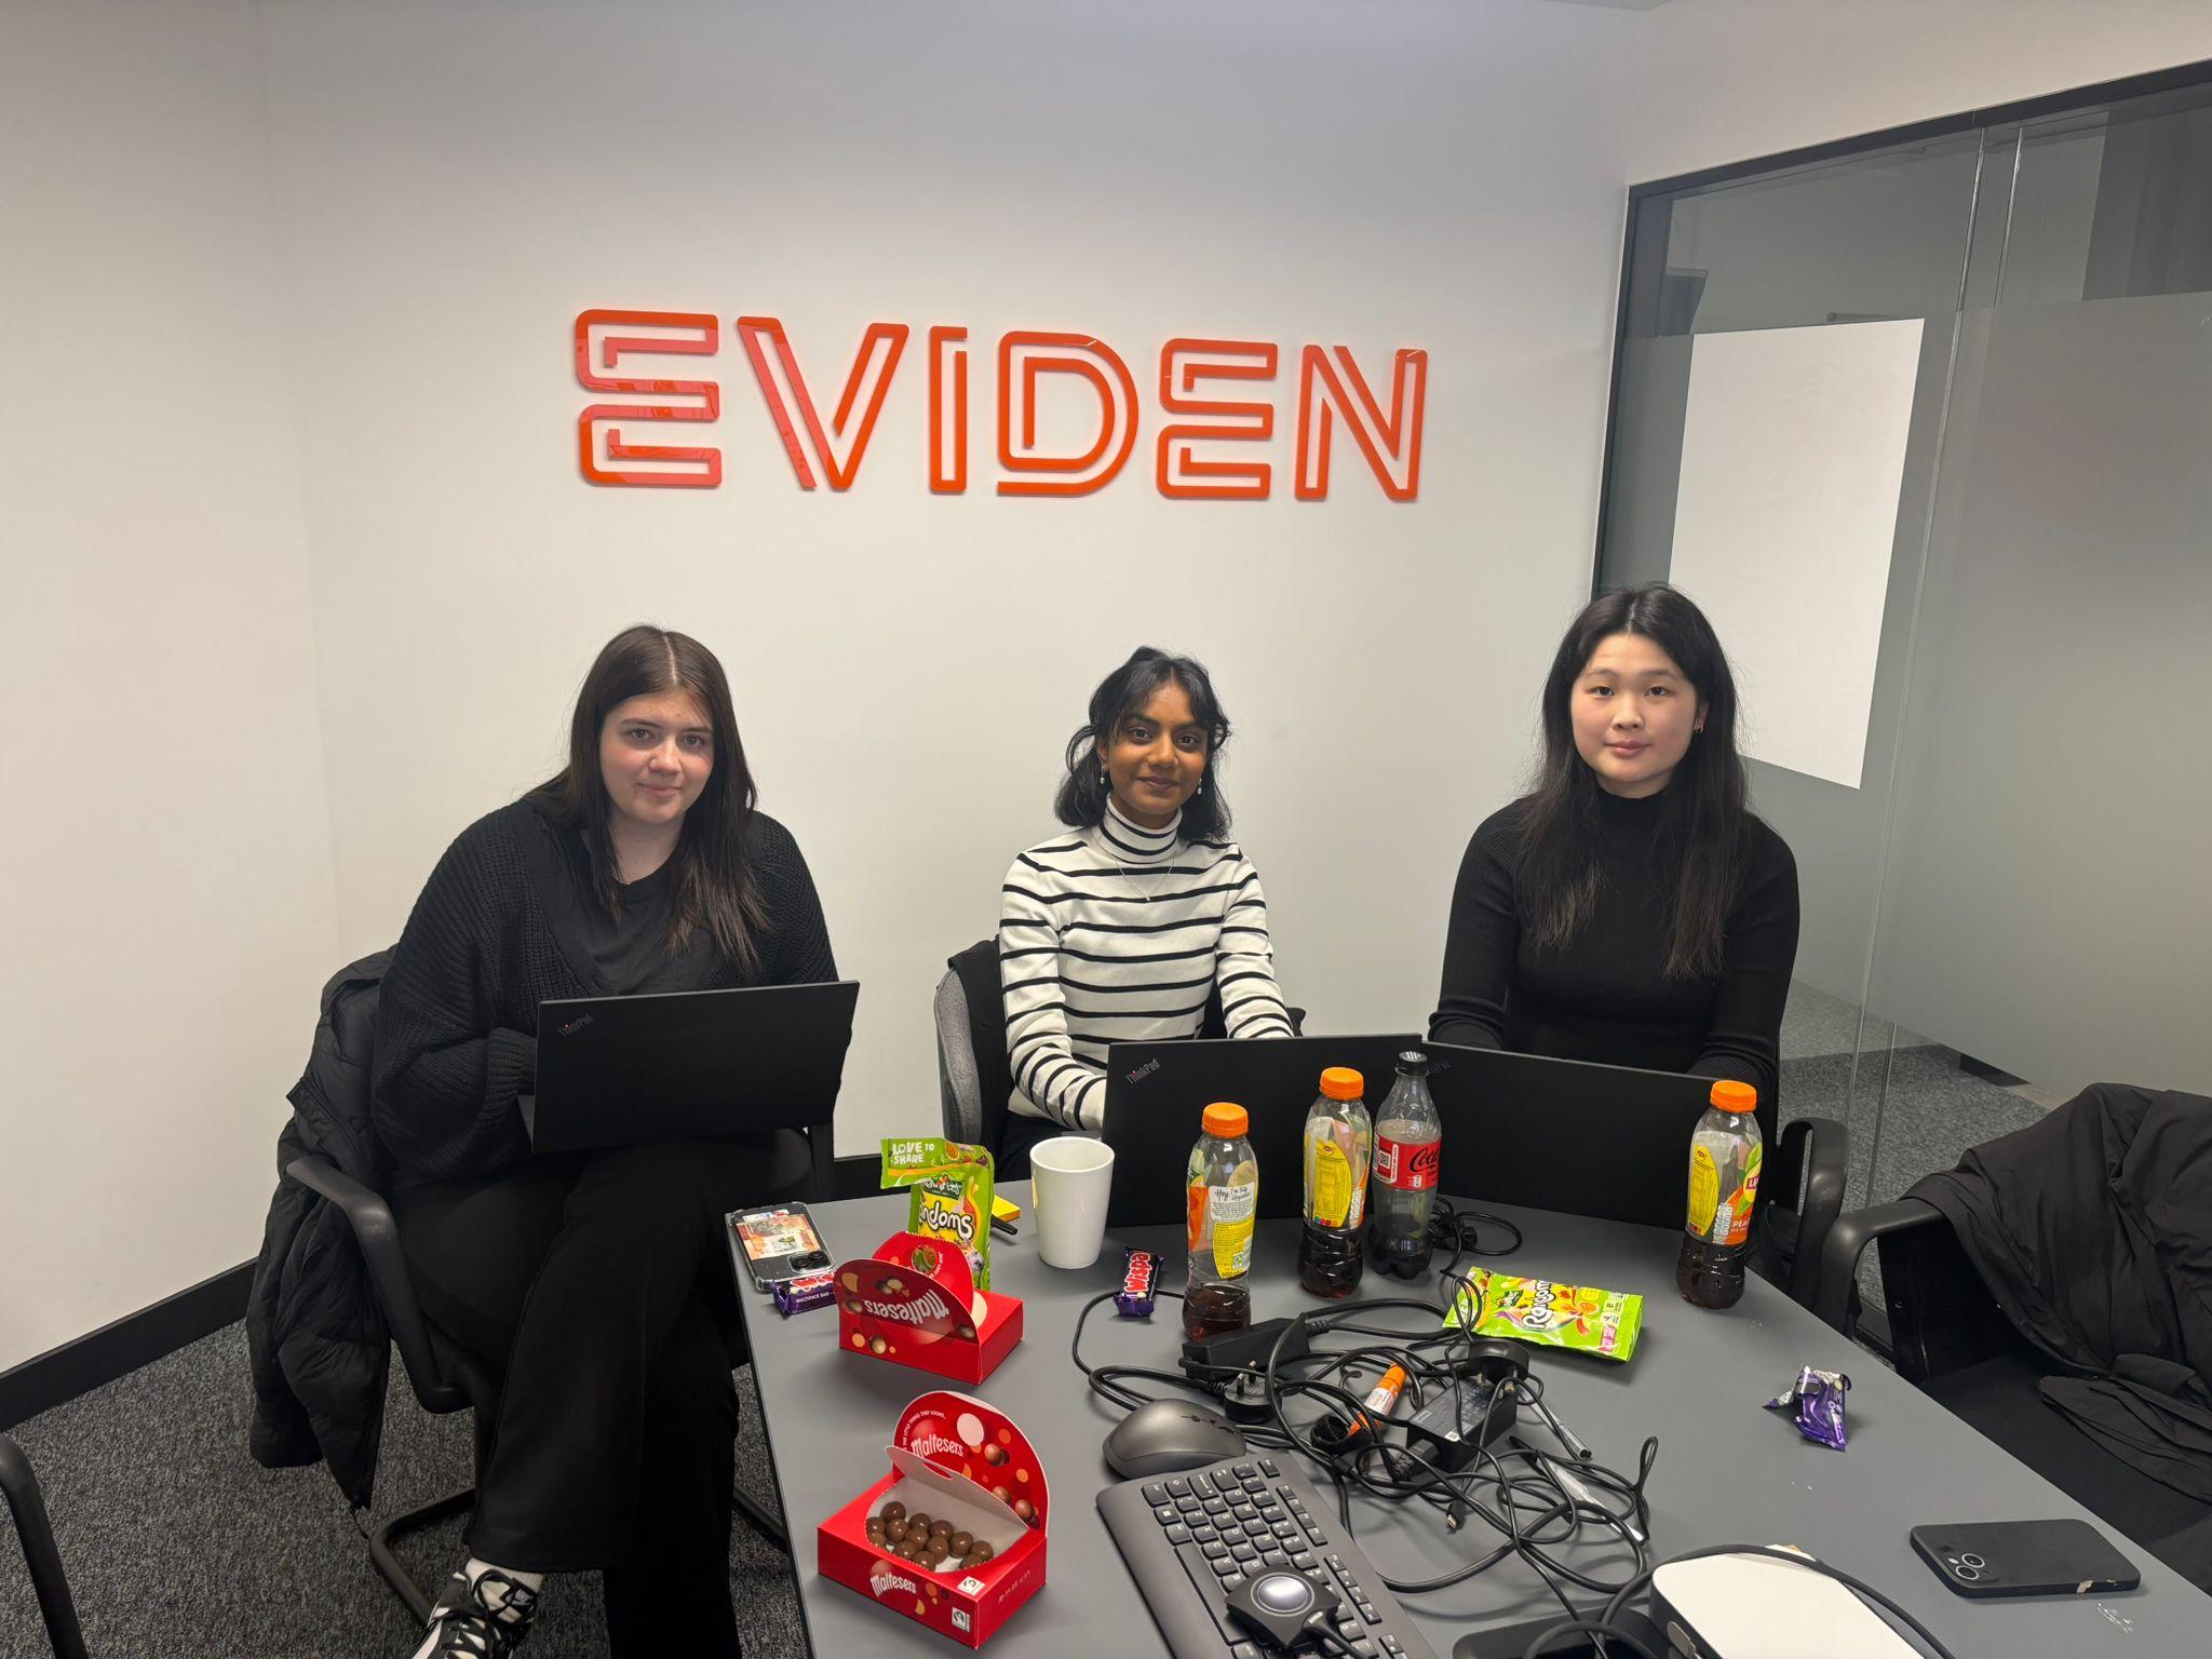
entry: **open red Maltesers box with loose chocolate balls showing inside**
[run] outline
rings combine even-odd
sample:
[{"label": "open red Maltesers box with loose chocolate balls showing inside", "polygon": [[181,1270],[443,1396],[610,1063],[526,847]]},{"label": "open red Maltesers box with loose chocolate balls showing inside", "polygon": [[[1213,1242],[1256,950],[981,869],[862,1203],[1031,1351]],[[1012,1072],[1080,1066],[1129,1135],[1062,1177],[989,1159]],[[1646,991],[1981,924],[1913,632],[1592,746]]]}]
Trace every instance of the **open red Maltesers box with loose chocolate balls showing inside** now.
[{"label": "open red Maltesers box with loose chocolate balls showing inside", "polygon": [[[1002,1411],[967,1394],[936,1389],[898,1418],[887,1447],[891,1473],[825,1520],[814,1535],[816,1571],[916,1624],[980,1648],[1015,1608],[1044,1588],[1044,1528],[1051,1502],[1035,1447]],[[987,1542],[989,1562],[942,1571],[905,1559],[869,1520],[885,1504],[949,1520],[953,1533]]]}]

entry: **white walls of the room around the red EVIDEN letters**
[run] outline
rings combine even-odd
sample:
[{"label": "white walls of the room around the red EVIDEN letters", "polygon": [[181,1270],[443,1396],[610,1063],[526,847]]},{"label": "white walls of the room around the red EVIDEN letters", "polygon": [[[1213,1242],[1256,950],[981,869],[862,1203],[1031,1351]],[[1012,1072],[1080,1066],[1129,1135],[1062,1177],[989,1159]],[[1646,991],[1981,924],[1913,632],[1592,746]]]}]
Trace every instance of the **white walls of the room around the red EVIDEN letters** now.
[{"label": "white walls of the room around the red EVIDEN letters", "polygon": [[[1588,582],[1624,186],[2212,53],[2117,0],[0,18],[38,387],[0,416],[0,1365],[252,1252],[323,973],[551,770],[635,617],[723,655],[867,987],[849,1148],[933,1121],[929,987],[1139,639],[1241,723],[1290,995],[1418,1020]],[[595,491],[584,305],[774,312],[818,396],[867,321],[964,323],[975,484],[922,487],[920,338],[860,482],[805,495],[726,336],[723,489]],[[1427,347],[1420,502],[1343,436],[1329,502],[1164,502],[1157,407],[1099,495],[1000,500],[1009,327],[1104,336],[1146,405],[1175,332]]]}]

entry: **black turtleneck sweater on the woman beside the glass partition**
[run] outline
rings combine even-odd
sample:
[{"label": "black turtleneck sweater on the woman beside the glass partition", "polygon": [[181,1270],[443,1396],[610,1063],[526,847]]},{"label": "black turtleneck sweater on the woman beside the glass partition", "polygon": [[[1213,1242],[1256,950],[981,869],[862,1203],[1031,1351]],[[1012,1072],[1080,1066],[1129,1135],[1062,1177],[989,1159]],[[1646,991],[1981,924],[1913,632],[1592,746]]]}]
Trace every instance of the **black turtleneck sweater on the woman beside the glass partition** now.
[{"label": "black turtleneck sweater on the woman beside the glass partition", "polygon": [[1778,834],[1752,818],[1721,971],[1670,980],[1674,863],[1659,847],[1663,803],[1666,792],[1644,801],[1599,796],[1604,891],[1566,949],[1537,949],[1522,927],[1517,872],[1528,803],[1482,821],[1451,894],[1431,1040],[1736,1077],[1759,1091],[1761,1106],[1774,1099],[1796,962],[1796,860]]}]

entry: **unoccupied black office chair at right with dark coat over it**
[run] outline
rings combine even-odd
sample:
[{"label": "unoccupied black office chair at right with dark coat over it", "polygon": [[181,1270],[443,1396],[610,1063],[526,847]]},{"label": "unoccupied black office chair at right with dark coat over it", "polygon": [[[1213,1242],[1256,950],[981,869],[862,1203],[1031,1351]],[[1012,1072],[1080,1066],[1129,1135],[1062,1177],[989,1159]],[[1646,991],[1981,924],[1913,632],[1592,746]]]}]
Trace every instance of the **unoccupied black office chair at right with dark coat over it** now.
[{"label": "unoccupied black office chair at right with dark coat over it", "polygon": [[[2044,1402],[2046,1376],[2070,1376],[2004,1316],[1942,1212],[1924,1199],[1851,1210],[1825,1241],[1814,1312],[1856,1336],[1858,1259],[1876,1245],[1898,1376],[1980,1429],[2112,1531],[2152,1555],[2212,1504],[2108,1453]],[[2177,1571],[2188,1571],[2174,1559]]]}]

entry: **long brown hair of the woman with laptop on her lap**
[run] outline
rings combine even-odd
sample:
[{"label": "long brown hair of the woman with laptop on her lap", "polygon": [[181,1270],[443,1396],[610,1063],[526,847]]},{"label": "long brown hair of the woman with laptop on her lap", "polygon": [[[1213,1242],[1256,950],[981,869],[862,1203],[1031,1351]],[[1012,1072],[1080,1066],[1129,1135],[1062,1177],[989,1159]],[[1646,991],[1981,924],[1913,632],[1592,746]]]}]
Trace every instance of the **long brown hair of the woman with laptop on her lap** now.
[{"label": "long brown hair of the woman with laptop on her lap", "polygon": [[726,958],[748,973],[761,967],[757,936],[768,925],[761,891],[745,863],[745,825],[759,792],[745,745],[737,737],[730,681],[714,653],[690,635],[650,624],[624,628],[599,650],[568,719],[568,765],[531,794],[551,816],[584,841],[593,896],[608,916],[622,914],[615,880],[615,843],[608,834],[613,805],[599,776],[599,730],[630,697],[686,692],[714,728],[714,765],[706,790],[684,814],[675,863],[675,902],[668,907],[668,949],[679,951],[692,929],[708,929]]}]

